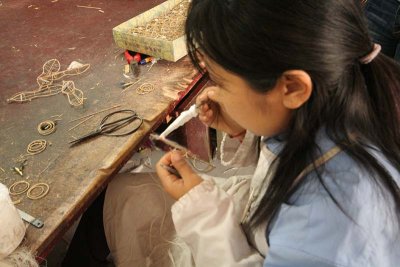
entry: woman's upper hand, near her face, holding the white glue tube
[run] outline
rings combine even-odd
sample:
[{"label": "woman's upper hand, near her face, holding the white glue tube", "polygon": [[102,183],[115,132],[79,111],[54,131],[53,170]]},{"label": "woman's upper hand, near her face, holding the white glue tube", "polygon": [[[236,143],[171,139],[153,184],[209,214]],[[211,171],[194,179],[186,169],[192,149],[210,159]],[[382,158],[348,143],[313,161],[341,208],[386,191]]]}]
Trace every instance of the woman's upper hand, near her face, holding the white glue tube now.
[{"label": "woman's upper hand, near her face, holding the white glue tube", "polygon": [[238,136],[238,134],[244,133],[245,129],[238,125],[224,110],[223,105],[220,104],[219,90],[218,87],[208,87],[197,97],[196,105],[199,107],[199,119],[209,127],[231,136]]}]

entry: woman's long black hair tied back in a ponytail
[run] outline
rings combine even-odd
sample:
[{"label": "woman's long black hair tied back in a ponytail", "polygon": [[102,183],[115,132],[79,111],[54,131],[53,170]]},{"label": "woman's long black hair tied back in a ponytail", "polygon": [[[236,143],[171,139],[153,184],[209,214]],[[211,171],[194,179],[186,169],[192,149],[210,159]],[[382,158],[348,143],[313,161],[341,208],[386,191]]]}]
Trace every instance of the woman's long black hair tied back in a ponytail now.
[{"label": "woman's long black hair tied back in a ponytail", "polygon": [[[200,51],[254,90],[270,90],[287,70],[304,70],[312,79],[312,95],[294,111],[252,226],[271,219],[292,196],[295,178],[320,156],[315,137],[322,127],[374,174],[400,214],[399,186],[366,149],[372,145],[400,171],[395,101],[400,101],[400,66],[382,53],[369,64],[360,63],[374,44],[359,0],[192,0],[186,37],[199,69]],[[319,180],[324,185],[321,175]]]}]

